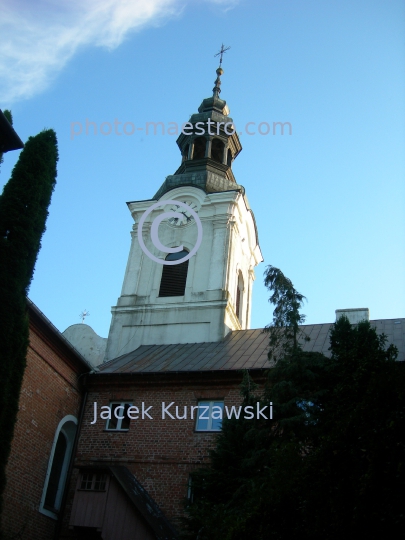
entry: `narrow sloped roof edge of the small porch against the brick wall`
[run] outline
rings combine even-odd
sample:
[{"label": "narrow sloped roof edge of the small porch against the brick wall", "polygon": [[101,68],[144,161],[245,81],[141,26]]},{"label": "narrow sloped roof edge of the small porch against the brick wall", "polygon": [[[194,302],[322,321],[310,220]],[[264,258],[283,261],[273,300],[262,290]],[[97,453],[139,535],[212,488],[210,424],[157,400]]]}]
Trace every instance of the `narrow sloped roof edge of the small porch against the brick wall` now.
[{"label": "narrow sloped roof edge of the small porch against the brick wall", "polygon": [[138,482],[135,476],[124,466],[109,466],[115,479],[153,529],[157,540],[176,540],[177,533],[166,519],[158,505]]}]

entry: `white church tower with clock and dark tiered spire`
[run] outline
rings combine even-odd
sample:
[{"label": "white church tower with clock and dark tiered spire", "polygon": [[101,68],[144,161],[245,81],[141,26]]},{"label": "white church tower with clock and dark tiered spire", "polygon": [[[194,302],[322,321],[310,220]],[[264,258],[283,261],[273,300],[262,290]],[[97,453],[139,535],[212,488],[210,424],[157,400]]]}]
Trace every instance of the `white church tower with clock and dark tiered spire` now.
[{"label": "white church tower with clock and dark tiered spire", "polygon": [[254,268],[263,259],[232,172],[242,146],[219,97],[221,64],[216,73],[212,97],[177,139],[177,171],[153,199],[127,203],[135,223],[105,361],[140,345],[220,341],[250,326]]}]

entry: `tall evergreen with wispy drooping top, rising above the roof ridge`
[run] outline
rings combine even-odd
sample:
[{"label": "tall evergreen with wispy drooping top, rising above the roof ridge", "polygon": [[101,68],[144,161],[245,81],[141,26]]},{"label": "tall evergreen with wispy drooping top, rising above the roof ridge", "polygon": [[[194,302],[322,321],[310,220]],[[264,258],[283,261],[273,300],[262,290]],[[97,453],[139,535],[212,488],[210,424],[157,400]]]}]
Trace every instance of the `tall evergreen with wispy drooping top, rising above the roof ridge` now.
[{"label": "tall evergreen with wispy drooping top, rising above the roof ridge", "polygon": [[300,345],[299,324],[305,317],[299,309],[304,297],[279,269],[270,266],[265,276],[275,304],[268,327],[269,358],[277,363],[268,372],[264,393],[258,395],[245,375],[241,394],[243,407],[272,402],[274,420],[223,420],[211,468],[192,475],[195,498],[187,505],[190,538],[260,540],[270,538],[269,527],[271,538],[294,538],[300,522],[302,465],[318,437],[327,359],[303,352]]}]

